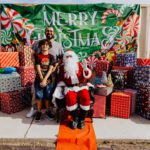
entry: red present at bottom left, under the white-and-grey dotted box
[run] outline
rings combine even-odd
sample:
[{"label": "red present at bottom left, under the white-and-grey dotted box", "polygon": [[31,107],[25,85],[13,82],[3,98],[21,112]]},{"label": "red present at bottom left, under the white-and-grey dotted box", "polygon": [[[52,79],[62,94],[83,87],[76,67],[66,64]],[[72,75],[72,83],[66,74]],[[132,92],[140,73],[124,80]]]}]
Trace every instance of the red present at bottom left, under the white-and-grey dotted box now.
[{"label": "red present at bottom left, under the white-and-grey dotted box", "polygon": [[1,111],[4,113],[15,113],[23,110],[21,91],[0,93]]}]

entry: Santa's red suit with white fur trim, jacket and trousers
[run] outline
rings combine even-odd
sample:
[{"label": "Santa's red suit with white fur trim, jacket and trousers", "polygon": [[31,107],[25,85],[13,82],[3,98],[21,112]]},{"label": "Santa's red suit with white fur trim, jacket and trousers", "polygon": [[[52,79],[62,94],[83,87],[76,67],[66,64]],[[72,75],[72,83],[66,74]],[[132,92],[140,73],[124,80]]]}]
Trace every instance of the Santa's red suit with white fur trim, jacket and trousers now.
[{"label": "Santa's red suit with white fur trim, jacket and trousers", "polygon": [[68,111],[77,109],[78,104],[81,109],[90,109],[90,95],[87,85],[87,79],[92,76],[91,70],[85,70],[79,62],[77,62],[78,70],[76,74],[68,75],[65,71],[65,65],[60,68],[60,82],[64,83],[64,94],[66,98],[66,108]]}]

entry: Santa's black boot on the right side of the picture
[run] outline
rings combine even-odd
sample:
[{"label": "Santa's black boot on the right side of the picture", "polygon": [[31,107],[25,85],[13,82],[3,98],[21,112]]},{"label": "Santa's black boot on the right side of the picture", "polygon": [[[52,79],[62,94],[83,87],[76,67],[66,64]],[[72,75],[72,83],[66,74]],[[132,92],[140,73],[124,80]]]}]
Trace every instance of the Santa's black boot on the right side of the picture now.
[{"label": "Santa's black boot on the right side of the picture", "polygon": [[87,116],[88,111],[80,109],[80,113],[79,113],[79,121],[78,121],[78,128],[79,129],[83,129],[85,127],[85,118]]}]

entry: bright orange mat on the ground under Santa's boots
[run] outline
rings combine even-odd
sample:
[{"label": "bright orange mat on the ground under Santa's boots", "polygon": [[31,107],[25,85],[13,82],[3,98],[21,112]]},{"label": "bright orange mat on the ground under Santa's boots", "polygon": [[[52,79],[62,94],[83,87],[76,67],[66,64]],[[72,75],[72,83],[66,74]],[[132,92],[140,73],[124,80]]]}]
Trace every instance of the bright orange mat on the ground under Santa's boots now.
[{"label": "bright orange mat on the ground under Santa's boots", "polygon": [[84,129],[70,129],[67,121],[60,124],[56,150],[97,150],[91,119],[86,118]]}]

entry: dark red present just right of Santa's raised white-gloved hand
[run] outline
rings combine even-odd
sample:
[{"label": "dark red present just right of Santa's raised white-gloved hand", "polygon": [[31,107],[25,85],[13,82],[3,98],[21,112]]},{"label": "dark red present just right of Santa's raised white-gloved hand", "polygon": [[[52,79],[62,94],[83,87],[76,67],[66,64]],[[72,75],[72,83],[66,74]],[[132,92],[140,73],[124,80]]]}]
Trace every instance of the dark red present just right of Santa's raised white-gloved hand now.
[{"label": "dark red present just right of Santa's raised white-gloved hand", "polygon": [[106,60],[98,60],[96,61],[96,76],[102,76],[102,72],[105,71],[108,72],[109,69],[109,61]]}]

